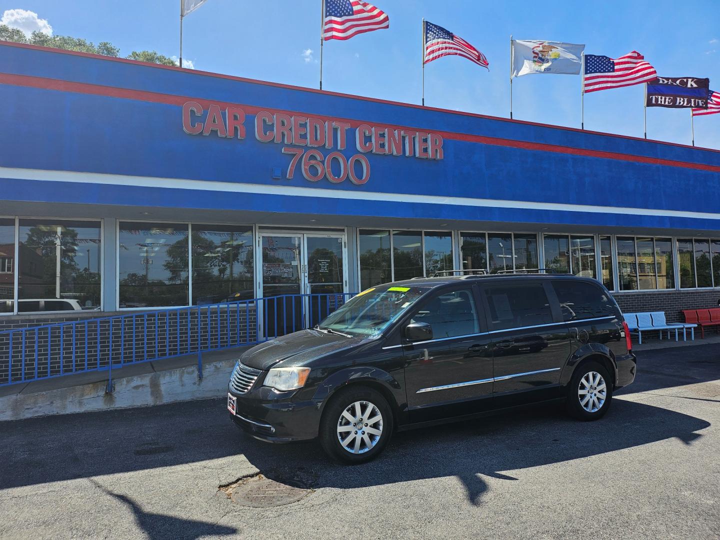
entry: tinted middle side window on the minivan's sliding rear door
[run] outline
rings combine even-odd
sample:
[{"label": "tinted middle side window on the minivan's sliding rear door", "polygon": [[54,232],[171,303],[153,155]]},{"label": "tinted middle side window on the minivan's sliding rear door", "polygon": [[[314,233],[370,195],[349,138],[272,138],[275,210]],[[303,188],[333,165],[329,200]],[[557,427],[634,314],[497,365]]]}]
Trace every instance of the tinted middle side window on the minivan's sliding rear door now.
[{"label": "tinted middle side window on the minivan's sliding rear door", "polygon": [[493,330],[554,322],[542,284],[487,287],[485,294]]}]

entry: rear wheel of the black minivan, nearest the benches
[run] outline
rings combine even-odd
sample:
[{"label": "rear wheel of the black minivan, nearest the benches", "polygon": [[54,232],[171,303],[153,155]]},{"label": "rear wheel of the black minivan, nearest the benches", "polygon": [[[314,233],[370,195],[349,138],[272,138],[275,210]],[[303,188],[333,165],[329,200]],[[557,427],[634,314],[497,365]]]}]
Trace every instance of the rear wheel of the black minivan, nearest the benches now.
[{"label": "rear wheel of the black minivan, nearest the benches", "polygon": [[608,370],[598,362],[582,364],[572,376],[567,410],[580,420],[598,420],[607,413],[613,398]]}]

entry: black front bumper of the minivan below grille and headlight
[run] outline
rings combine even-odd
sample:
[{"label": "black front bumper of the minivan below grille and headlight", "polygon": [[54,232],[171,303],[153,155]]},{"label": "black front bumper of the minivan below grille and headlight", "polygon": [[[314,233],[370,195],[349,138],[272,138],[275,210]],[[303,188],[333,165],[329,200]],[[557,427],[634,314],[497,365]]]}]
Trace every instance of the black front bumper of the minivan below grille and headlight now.
[{"label": "black front bumper of the minivan below grille and headlight", "polygon": [[236,400],[235,415],[228,412],[235,426],[262,441],[285,443],[307,441],[318,436],[320,403],[297,399],[296,392],[275,392],[258,387],[244,394],[228,385]]}]

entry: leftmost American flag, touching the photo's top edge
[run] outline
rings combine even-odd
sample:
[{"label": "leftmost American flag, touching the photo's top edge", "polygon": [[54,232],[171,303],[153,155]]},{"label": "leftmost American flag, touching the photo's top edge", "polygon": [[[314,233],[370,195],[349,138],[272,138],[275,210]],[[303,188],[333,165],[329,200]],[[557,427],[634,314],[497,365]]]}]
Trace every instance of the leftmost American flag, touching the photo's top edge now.
[{"label": "leftmost American flag, touching the photo's top edge", "polygon": [[390,19],[372,4],[363,0],[325,0],[325,41],[349,40],[381,28],[390,28]]}]

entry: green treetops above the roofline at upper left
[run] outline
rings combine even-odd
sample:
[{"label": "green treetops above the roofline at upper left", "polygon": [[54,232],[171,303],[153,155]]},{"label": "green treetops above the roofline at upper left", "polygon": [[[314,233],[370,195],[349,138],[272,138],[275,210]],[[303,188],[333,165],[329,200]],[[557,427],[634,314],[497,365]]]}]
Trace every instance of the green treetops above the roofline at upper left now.
[{"label": "green treetops above the roofline at upper left", "polygon": [[[0,24],[0,40],[12,41],[15,43],[27,43],[29,45],[40,45],[41,47],[51,47],[54,49],[74,50],[78,53],[91,53],[96,55],[112,56],[117,58],[120,56],[120,48],[115,47],[108,41],[101,41],[95,45],[91,41],[83,40],[80,37],[71,37],[67,35],[47,35],[42,32],[32,32],[27,37],[22,30],[11,28],[6,24]],[[126,58],[130,60],[141,60],[143,62],[151,62],[162,64],[163,66],[177,66],[178,63],[172,58],[156,53],[154,50],[133,50]]]}]

